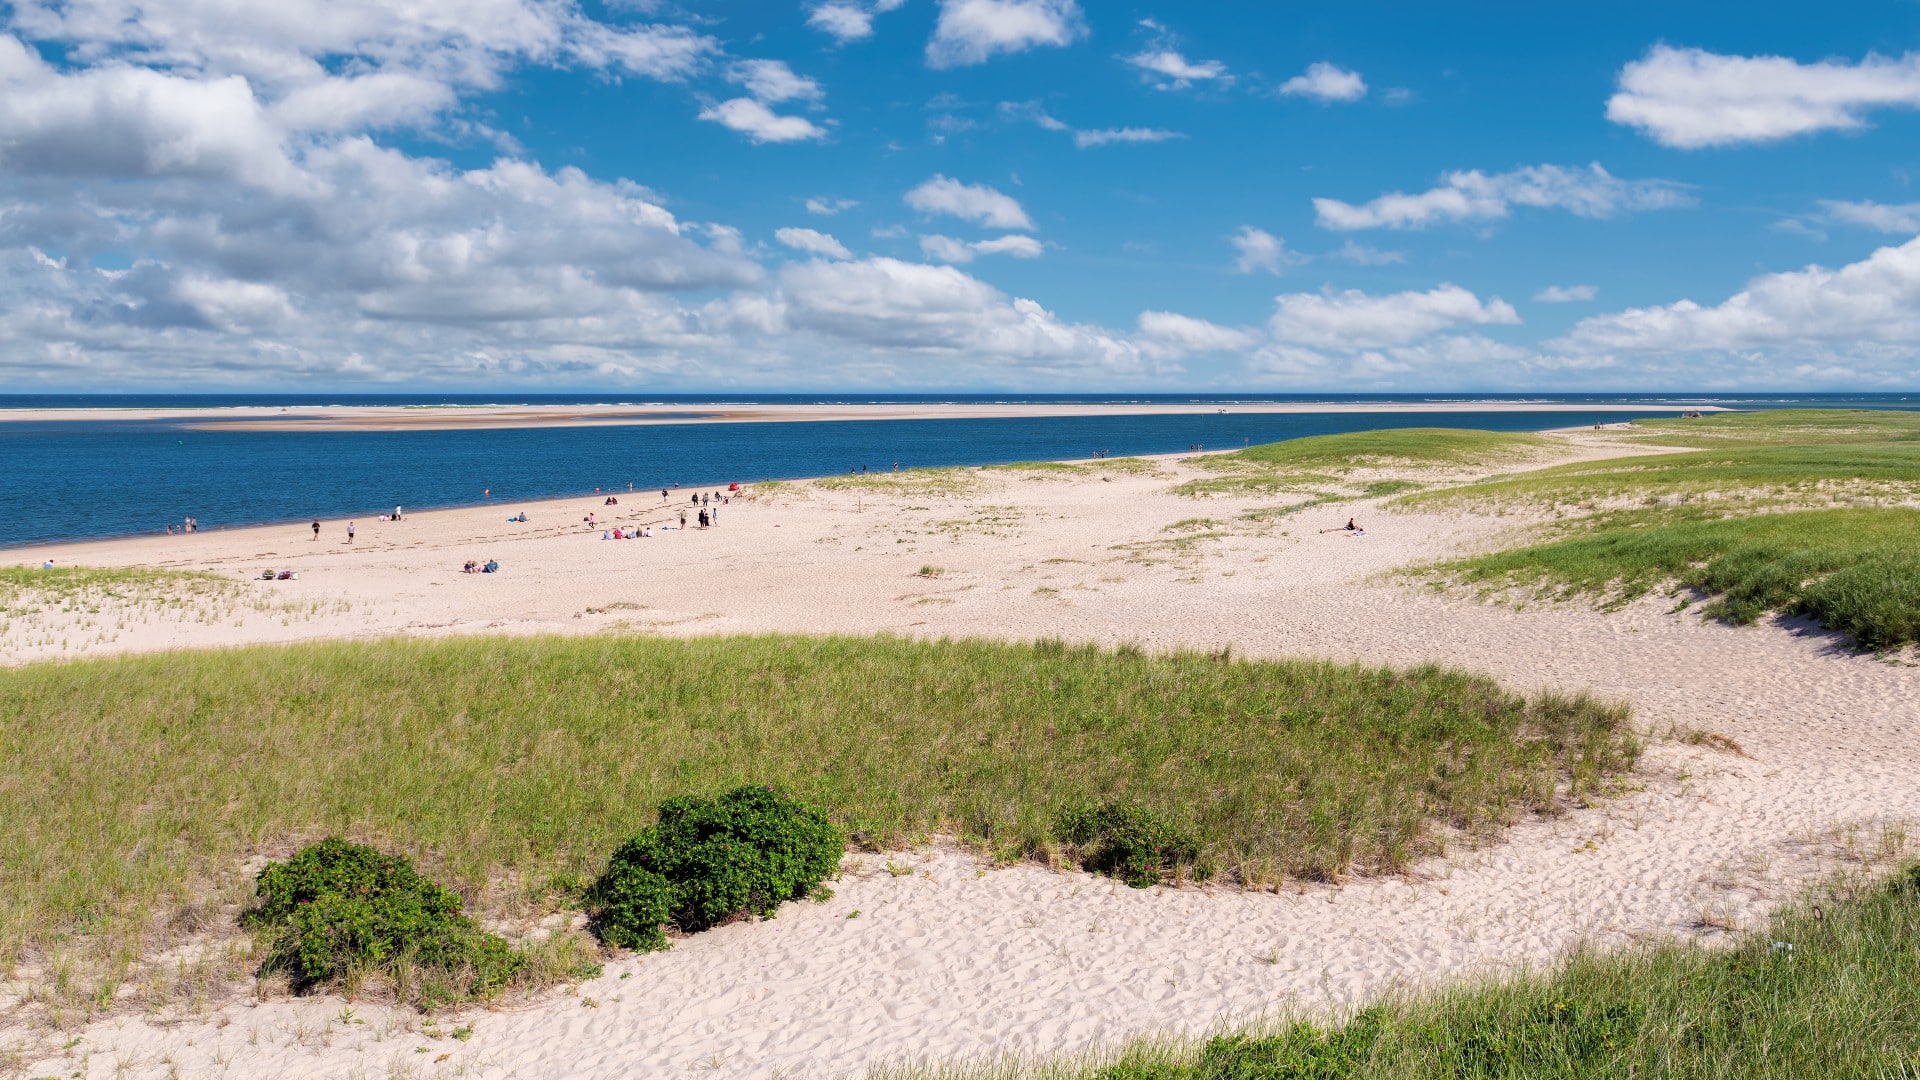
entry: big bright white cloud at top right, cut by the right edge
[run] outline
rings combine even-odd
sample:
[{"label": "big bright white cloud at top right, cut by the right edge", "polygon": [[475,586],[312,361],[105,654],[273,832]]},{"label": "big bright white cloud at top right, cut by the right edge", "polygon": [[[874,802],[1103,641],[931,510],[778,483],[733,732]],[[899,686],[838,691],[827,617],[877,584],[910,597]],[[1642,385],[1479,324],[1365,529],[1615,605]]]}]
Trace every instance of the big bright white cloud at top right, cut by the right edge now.
[{"label": "big bright white cloud at top right, cut by the right edge", "polygon": [[1659,44],[1620,69],[1607,119],[1693,150],[1851,131],[1874,108],[1920,108],[1920,54],[1799,63]]}]

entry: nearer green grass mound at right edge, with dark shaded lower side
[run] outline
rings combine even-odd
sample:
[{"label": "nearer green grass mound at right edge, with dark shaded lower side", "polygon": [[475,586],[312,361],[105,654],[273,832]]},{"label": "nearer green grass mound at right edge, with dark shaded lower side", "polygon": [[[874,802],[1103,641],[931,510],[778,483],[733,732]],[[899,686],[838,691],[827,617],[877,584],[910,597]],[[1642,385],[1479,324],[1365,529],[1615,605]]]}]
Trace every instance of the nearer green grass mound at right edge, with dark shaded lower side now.
[{"label": "nearer green grass mound at right edge, with dark shaded lower side", "polygon": [[1655,590],[1690,590],[1707,598],[1707,615],[1736,625],[1786,613],[1866,648],[1920,642],[1920,509],[1617,513],[1578,536],[1432,571],[1494,590],[1599,598],[1609,607]]}]

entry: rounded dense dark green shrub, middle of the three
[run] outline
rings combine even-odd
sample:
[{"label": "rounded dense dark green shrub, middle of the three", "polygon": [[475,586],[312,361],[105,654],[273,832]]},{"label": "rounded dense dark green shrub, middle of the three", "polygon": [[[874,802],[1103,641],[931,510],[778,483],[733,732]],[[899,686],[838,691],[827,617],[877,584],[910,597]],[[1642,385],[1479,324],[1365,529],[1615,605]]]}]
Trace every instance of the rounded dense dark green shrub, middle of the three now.
[{"label": "rounded dense dark green shrub, middle of the three", "polygon": [[839,869],[845,849],[824,813],[772,786],[682,796],[612,853],[588,901],[609,945],[664,949],[666,922],[693,934],[739,915],[770,919]]}]

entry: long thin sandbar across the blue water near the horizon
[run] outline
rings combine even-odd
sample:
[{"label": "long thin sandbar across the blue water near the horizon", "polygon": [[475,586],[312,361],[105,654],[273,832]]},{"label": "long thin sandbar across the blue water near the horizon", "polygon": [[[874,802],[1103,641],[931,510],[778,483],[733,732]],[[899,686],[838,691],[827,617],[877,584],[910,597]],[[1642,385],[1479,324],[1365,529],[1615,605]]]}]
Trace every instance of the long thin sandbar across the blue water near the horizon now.
[{"label": "long thin sandbar across the blue water near the horizon", "polygon": [[847,405],[242,405],[230,409],[0,409],[0,423],[167,421],[205,430],[461,430],[695,423],[1152,417],[1210,413],[1680,413],[1693,405],[1544,402],[847,404]]}]

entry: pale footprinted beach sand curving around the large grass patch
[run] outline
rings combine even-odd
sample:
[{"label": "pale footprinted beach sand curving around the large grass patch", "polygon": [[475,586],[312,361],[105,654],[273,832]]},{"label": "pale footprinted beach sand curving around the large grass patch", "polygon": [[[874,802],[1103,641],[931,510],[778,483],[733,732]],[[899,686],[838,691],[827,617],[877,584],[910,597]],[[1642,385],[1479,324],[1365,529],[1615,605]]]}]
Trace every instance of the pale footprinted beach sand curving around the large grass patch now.
[{"label": "pale footprinted beach sand curving around the large grass patch", "polygon": [[[1574,434],[1561,459],[1620,452]],[[966,471],[958,494],[780,484],[735,498],[718,528],[632,542],[603,542],[580,519],[664,523],[678,507],[655,490],[618,492],[620,507],[574,498],[359,519],[351,548],[346,523],[326,521],[321,542],[296,523],[17,550],[0,557],[207,569],[271,600],[127,628],[15,621],[0,659],[465,632],[1058,636],[1440,661],[1517,690],[1624,700],[1653,732],[1701,728],[1745,753],[1655,738],[1636,790],[1617,799],[1407,876],[1281,894],[1137,892],[1037,865],[989,869],[947,847],[849,857],[829,903],[622,957],[578,992],[440,1022],[470,1022],[467,1042],[428,1038],[403,1009],[355,1005],[365,1022],[348,1024],[338,997],[238,997],[167,1022],[129,1009],[60,1032],[79,1036],[63,1051],[48,1032],[0,1028],[0,1047],[33,1040],[25,1074],[88,1078],[799,1078],[1062,1053],[1348,1007],[1548,963],[1578,942],[1722,936],[1880,828],[1920,819],[1920,669],[1803,626],[1730,628],[1653,601],[1597,613],[1444,596],[1390,573],[1509,542],[1524,521],[1356,500],[1256,523],[1240,515],[1288,500],[1181,498],[1169,488],[1192,469],[1158,467]],[[520,509],[530,521],[507,523]],[[1365,538],[1319,532],[1350,515]],[[499,575],[459,573],[488,557]],[[929,565],[941,575],[918,573]],[[250,580],[280,567],[300,580]],[[889,872],[889,859],[914,872]]]}]

